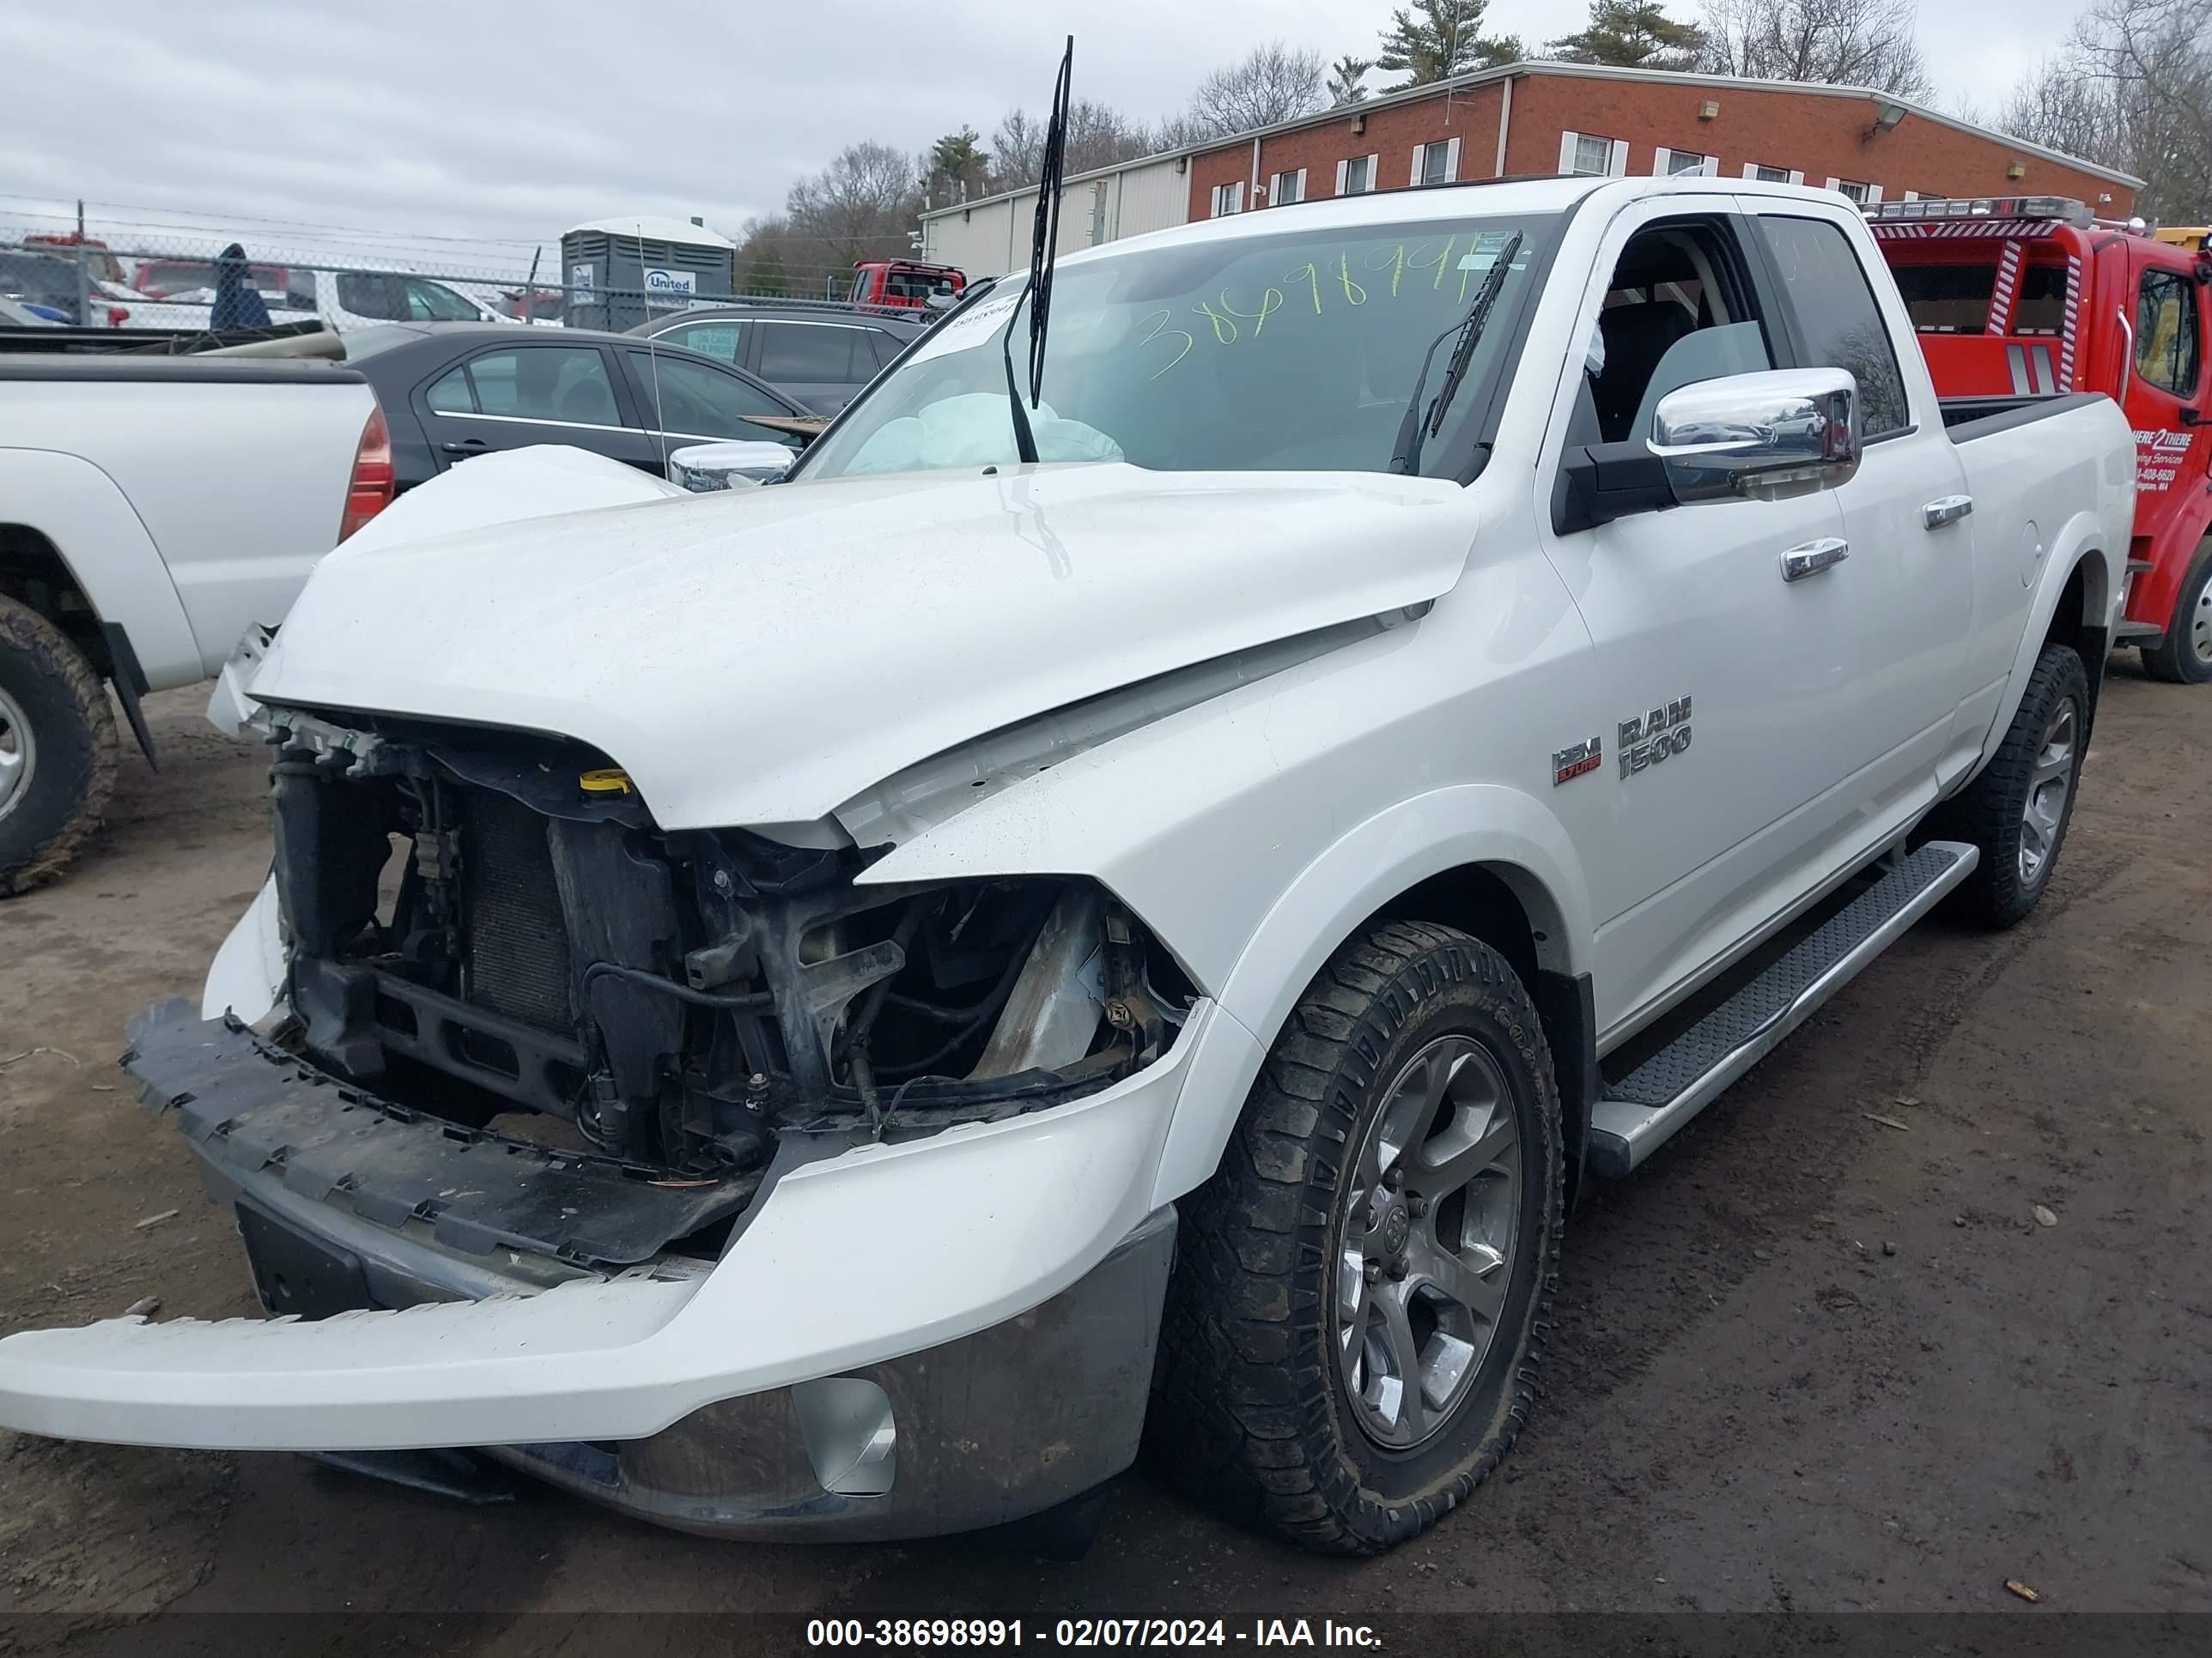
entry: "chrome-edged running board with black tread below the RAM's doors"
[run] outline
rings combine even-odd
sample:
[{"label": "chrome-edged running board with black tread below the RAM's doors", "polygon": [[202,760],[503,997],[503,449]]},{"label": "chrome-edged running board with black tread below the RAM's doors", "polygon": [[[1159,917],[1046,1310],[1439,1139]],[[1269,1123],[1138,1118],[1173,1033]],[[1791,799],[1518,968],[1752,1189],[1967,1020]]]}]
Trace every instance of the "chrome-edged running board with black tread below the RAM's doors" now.
[{"label": "chrome-edged running board with black tread below the RAM's doors", "polygon": [[1590,1167],[1621,1176],[1765,1059],[1858,970],[1887,951],[1982,860],[1978,847],[1931,840],[1790,946],[1683,1035],[1606,1088],[1590,1112]]}]

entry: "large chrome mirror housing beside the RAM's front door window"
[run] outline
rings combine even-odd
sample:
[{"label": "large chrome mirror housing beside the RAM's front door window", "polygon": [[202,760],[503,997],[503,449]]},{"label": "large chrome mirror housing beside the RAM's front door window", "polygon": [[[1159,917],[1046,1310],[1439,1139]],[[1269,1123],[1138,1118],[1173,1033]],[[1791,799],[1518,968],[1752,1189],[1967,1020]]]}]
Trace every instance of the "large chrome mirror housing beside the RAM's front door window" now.
[{"label": "large chrome mirror housing beside the RAM's front door window", "polygon": [[1646,442],[1683,504],[1838,489],[1858,471],[1858,380],[1849,369],[1697,380],[1659,398]]}]

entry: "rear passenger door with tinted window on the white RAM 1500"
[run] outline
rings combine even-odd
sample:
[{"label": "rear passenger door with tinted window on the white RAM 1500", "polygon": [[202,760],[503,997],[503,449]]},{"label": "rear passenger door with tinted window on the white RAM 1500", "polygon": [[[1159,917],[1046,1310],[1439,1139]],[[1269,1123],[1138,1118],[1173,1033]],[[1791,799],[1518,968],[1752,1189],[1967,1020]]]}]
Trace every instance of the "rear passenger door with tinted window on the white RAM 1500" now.
[{"label": "rear passenger door with tinted window on the white RAM 1500", "polygon": [[1836,491],[1849,542],[1838,575],[1863,588],[1874,623],[1851,699],[1863,732],[1851,787],[1869,820],[1887,820],[1933,800],[1947,754],[1980,754],[2020,643],[2020,562],[1989,562],[1989,590],[1978,592],[1984,520],[1973,517],[1924,358],[1896,349],[1916,345],[1911,318],[1896,285],[1880,281],[1882,259],[1858,214],[1772,197],[1745,206],[1787,296],[1790,354],[1858,380],[1865,449],[1858,475]]}]

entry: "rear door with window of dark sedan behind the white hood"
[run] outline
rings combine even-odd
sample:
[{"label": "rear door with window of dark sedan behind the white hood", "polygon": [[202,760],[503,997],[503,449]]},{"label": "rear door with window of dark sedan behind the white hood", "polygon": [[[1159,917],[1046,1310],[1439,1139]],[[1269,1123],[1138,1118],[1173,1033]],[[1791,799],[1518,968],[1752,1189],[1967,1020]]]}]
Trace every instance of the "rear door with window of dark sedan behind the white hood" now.
[{"label": "rear door with window of dark sedan behind the white hood", "polygon": [[575,444],[661,471],[659,444],[639,427],[602,345],[487,345],[434,376],[414,400],[440,469],[493,449]]}]

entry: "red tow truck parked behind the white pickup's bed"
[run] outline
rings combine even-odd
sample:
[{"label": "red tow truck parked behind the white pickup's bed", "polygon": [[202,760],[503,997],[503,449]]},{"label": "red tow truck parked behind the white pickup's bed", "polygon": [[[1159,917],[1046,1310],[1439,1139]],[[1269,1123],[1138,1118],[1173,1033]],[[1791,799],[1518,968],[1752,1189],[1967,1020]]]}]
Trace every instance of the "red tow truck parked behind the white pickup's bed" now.
[{"label": "red tow truck parked behind the white pickup's bed", "polygon": [[2101,391],[2135,427],[2121,646],[2154,679],[2212,681],[2212,252],[2066,197],[1867,210],[1942,398],[1984,413]]}]

